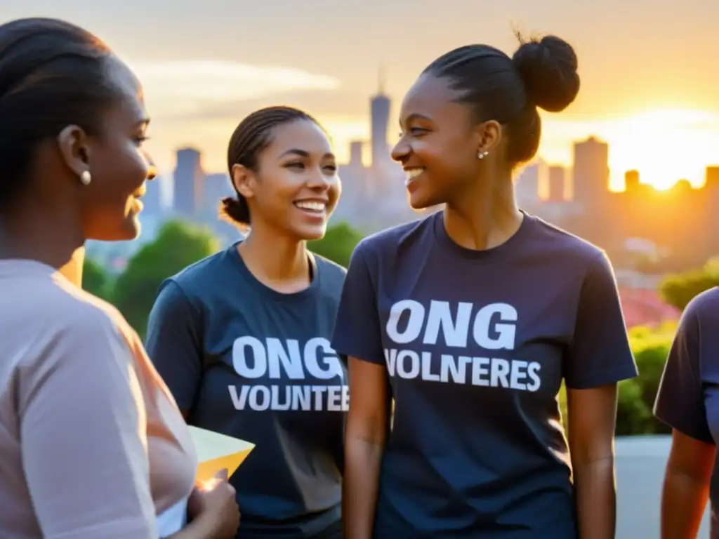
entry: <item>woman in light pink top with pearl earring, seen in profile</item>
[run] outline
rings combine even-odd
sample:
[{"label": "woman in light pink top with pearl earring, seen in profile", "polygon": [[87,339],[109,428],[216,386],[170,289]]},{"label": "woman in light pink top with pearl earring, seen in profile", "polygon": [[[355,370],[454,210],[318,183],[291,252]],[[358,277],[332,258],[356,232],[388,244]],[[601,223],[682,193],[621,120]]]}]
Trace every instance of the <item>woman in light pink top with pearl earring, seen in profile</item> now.
[{"label": "woman in light pink top with pearl earring, seen in profile", "polygon": [[[134,239],[152,179],[142,88],[97,37],[0,26],[0,537],[232,536],[232,487],[194,489],[186,425],[137,334],[81,290],[87,239]],[[181,524],[180,524],[181,526]]]}]

